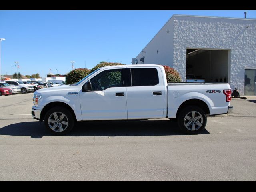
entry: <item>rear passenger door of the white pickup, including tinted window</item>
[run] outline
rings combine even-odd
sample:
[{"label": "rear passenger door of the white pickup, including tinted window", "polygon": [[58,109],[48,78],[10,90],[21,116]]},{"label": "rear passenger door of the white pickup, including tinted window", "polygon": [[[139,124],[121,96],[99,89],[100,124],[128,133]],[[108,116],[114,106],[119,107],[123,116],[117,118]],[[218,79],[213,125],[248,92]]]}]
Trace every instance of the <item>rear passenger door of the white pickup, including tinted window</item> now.
[{"label": "rear passenger door of the white pickup, including tinted window", "polygon": [[163,118],[165,89],[160,67],[130,68],[128,119]]}]

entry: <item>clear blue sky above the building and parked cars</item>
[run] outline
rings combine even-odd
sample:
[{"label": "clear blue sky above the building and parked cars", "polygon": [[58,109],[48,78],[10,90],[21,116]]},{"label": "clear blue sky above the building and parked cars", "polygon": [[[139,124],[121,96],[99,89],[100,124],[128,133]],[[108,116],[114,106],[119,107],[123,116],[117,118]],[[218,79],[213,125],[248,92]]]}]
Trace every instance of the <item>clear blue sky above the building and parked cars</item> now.
[{"label": "clear blue sky above the building and parked cars", "polygon": [[[256,18],[256,11],[0,11],[1,74],[66,74],[100,61],[131,64],[173,14]],[[17,68],[13,68],[16,72]],[[14,73],[13,72],[13,73]]]}]

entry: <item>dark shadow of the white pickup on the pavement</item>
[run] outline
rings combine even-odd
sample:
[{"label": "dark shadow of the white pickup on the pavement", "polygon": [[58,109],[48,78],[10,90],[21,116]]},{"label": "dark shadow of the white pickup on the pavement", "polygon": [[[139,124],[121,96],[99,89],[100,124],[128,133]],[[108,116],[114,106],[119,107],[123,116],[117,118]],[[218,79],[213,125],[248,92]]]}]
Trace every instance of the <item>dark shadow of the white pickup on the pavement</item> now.
[{"label": "dark shadow of the white pickup on the pavement", "polygon": [[[204,129],[200,134],[209,134]],[[42,138],[52,136],[45,130],[44,122],[21,122],[0,128],[0,135],[31,136]],[[170,120],[122,120],[78,122],[65,136],[168,136],[186,135],[176,122]]]}]

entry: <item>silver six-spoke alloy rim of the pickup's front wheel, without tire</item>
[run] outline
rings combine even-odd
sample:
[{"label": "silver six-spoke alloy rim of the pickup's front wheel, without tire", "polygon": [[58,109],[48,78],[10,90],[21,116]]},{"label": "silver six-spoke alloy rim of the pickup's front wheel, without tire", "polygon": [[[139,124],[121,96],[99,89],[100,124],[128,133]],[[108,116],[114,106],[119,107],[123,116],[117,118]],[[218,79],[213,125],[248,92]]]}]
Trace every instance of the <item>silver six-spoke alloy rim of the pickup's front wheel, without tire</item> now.
[{"label": "silver six-spoke alloy rim of the pickup's front wheel, without tire", "polygon": [[55,132],[62,132],[68,127],[68,118],[62,112],[54,112],[48,118],[49,127]]}]

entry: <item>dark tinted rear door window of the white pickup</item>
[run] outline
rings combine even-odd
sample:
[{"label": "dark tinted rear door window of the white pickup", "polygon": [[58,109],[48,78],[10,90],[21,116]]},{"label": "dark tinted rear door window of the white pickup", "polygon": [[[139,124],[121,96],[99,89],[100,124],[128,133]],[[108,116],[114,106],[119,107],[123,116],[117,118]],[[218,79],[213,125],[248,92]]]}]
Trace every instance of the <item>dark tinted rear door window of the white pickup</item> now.
[{"label": "dark tinted rear door window of the white pickup", "polygon": [[159,83],[156,68],[132,69],[132,86],[153,86]]}]

